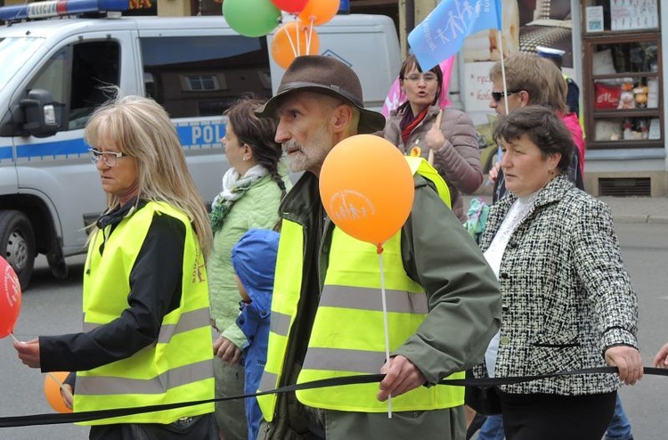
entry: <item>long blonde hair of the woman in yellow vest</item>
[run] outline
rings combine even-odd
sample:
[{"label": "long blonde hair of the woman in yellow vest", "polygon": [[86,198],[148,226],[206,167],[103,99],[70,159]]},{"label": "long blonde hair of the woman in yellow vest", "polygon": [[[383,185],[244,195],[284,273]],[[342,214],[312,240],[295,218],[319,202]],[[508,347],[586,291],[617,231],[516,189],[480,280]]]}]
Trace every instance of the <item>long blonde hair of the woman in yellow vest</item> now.
[{"label": "long blonde hair of the woman in yellow vest", "polygon": [[[142,96],[106,102],[94,111],[84,138],[93,147],[113,142],[120,152],[134,158],[139,175],[138,199],[164,201],[182,210],[208,256],[213,237],[207,209],[186,166],[175,127],[158,102]],[[107,196],[107,212],[119,205],[117,196]]]}]

